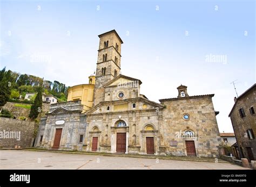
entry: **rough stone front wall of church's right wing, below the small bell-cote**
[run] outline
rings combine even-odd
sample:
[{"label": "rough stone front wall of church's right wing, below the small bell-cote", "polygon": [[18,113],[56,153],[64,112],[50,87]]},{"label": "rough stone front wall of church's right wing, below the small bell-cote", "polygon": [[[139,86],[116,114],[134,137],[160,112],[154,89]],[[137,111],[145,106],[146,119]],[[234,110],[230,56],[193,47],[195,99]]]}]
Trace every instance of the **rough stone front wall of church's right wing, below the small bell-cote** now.
[{"label": "rough stone front wall of church's right wing, below the small bell-cote", "polygon": [[[212,103],[213,95],[166,99],[163,110],[164,142],[167,154],[187,156],[186,141],[194,141],[196,155],[217,157],[221,142]],[[184,114],[189,119],[184,119]],[[194,137],[184,137],[191,131]]]}]

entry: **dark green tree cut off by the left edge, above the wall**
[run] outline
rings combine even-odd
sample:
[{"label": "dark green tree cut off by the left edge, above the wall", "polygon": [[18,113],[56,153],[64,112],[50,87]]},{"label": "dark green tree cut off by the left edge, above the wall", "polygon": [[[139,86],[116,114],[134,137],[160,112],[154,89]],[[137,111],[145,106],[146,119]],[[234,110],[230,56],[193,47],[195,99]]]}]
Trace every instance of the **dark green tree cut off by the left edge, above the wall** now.
[{"label": "dark green tree cut off by the left edge, above the wall", "polygon": [[11,84],[6,77],[9,77],[9,73],[5,72],[5,68],[0,73],[0,111],[2,107],[7,103],[11,95]]}]

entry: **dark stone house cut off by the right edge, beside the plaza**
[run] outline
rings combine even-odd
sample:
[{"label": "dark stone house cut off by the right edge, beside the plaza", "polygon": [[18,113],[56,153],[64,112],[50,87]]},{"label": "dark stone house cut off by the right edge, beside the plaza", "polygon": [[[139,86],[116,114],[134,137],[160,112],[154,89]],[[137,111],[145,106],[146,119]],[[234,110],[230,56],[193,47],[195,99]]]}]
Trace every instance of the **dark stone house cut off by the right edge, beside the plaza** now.
[{"label": "dark stone house cut off by the right edge, beside the plaza", "polygon": [[238,98],[234,98],[234,106],[228,117],[234,129],[238,144],[239,158],[249,161],[256,159],[256,84],[247,89]]}]

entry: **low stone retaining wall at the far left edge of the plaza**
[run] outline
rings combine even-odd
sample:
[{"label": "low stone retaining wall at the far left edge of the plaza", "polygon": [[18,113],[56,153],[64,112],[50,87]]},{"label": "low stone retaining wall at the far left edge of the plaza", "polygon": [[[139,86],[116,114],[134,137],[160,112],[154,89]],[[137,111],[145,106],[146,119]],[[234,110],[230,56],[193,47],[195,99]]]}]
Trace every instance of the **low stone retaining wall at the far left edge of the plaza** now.
[{"label": "low stone retaining wall at the far left edge of the plaza", "polygon": [[31,147],[35,122],[0,117],[0,147]]}]

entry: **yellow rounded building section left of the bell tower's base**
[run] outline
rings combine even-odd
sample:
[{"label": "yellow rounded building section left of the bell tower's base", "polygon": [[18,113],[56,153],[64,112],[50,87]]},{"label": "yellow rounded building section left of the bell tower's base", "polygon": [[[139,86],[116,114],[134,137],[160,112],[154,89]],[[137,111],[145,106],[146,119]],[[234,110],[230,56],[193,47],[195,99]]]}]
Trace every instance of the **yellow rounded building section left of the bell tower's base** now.
[{"label": "yellow rounded building section left of the bell tower's base", "polygon": [[94,87],[95,74],[92,74],[89,76],[89,84],[79,84],[68,89],[68,102],[81,100],[81,104],[84,105],[83,112],[91,109]]}]

